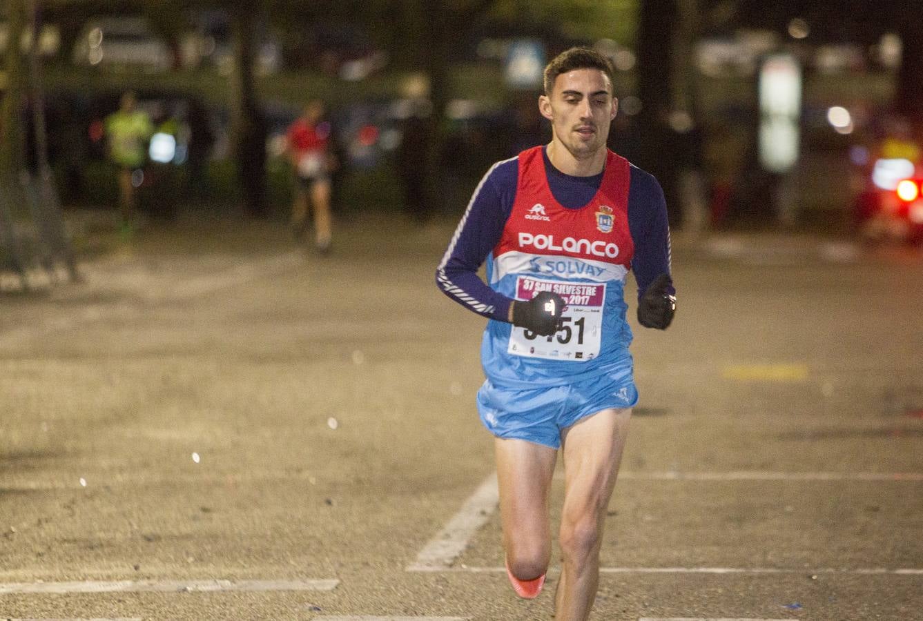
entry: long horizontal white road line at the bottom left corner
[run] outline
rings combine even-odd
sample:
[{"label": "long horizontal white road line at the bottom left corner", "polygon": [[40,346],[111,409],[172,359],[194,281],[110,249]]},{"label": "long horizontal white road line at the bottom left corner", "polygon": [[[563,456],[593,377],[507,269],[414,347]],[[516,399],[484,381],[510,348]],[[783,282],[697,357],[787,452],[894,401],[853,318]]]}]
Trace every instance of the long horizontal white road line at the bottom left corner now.
[{"label": "long horizontal white road line at the bottom left corner", "polygon": [[0,594],[210,591],[333,591],[340,580],[114,580],[6,582]]}]

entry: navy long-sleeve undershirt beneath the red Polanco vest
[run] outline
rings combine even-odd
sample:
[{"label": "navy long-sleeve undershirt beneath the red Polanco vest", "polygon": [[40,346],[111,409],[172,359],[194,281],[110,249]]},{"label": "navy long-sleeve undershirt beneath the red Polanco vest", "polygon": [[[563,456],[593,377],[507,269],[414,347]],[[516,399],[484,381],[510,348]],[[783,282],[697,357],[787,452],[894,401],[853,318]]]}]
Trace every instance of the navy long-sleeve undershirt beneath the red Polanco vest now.
[{"label": "navy long-sleeve undershirt beneath the red Polanco vest", "polygon": [[[603,173],[577,177],[557,170],[543,149],[551,193],[568,209],[580,209],[596,194]],[[638,294],[660,274],[670,272],[670,232],[664,192],[650,173],[630,166],[629,231],[634,242],[631,270]],[[510,298],[491,289],[477,270],[503,233],[512,212],[519,177],[519,160],[498,161],[474,189],[468,209],[436,270],[439,289],[479,315],[507,321]]]}]

